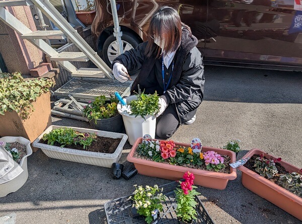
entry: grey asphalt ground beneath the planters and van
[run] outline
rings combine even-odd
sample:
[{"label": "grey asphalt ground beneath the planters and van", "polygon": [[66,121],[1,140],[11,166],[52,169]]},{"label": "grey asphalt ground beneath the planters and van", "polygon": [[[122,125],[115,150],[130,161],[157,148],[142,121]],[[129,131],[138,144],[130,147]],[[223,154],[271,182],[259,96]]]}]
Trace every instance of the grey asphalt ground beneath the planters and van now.
[{"label": "grey asphalt ground beneath the planters and van", "polygon": [[[222,147],[240,139],[244,151],[260,148],[302,167],[302,73],[227,67],[205,67],[205,98],[197,120],[181,126],[173,140]],[[53,117],[54,125],[88,127],[85,122]],[[120,162],[126,164],[126,143]],[[170,181],[136,175],[113,180],[110,169],[47,157],[28,159],[29,178],[17,192],[0,198],[0,223],[106,223],[104,203],[133,192],[133,185]],[[201,200],[216,223],[302,223],[247,190],[241,172],[225,190],[199,187]],[[12,222],[4,216],[11,215]],[[15,220],[15,222],[14,222]],[[8,220],[7,220],[8,221]]]}]

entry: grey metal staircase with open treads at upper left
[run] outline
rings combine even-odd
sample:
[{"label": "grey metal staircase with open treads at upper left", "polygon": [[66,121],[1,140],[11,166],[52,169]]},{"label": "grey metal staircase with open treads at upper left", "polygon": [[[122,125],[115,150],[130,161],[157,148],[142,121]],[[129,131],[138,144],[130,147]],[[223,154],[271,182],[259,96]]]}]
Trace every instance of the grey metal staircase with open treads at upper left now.
[{"label": "grey metal staircase with open treads at upper left", "polygon": [[[60,30],[39,30],[31,31],[27,26],[21,23],[4,7],[7,6],[31,6],[35,5],[41,12],[49,18]],[[73,27],[62,17],[62,15],[49,3],[48,0],[10,0],[0,1],[0,20],[21,35],[21,38],[27,39],[46,55],[52,61],[57,61],[63,68],[71,73],[73,77],[87,78],[106,78],[113,80],[111,69],[99,57],[90,45],[73,29]],[[49,46],[43,39],[64,39],[68,38],[82,52],[61,52]],[[97,68],[80,68],[77,69],[70,62],[91,60]]]}]

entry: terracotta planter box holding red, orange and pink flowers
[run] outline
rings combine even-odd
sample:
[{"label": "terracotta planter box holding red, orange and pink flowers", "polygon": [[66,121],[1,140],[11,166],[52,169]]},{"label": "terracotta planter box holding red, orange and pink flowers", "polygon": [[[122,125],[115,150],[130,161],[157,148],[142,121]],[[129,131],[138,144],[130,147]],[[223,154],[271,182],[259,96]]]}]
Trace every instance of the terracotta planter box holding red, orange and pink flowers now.
[{"label": "terracotta planter box holding red, orange and pink flowers", "polygon": [[[197,170],[197,169],[187,168],[178,165],[171,165],[161,162],[154,162],[145,159],[134,158],[133,157],[134,152],[138,144],[141,143],[141,141],[142,138],[138,138],[135,141],[130,153],[127,156],[127,160],[129,162],[134,163],[134,166],[139,174],[149,177],[158,177],[158,178],[176,181],[182,179],[184,173],[189,171],[193,173],[195,176],[195,180],[194,180],[195,185],[199,185],[207,188],[214,188],[218,190],[223,190],[228,184],[229,180],[234,180],[237,177],[236,169],[233,169],[232,167],[231,167],[231,174],[224,174],[224,173],[203,171],[203,170]],[[184,144],[179,142],[175,142],[175,144],[185,147],[190,146],[189,144]],[[202,146],[202,151],[204,152],[211,151],[211,150],[220,154],[229,155],[231,157],[231,162],[236,161],[236,155],[232,151]]]}]

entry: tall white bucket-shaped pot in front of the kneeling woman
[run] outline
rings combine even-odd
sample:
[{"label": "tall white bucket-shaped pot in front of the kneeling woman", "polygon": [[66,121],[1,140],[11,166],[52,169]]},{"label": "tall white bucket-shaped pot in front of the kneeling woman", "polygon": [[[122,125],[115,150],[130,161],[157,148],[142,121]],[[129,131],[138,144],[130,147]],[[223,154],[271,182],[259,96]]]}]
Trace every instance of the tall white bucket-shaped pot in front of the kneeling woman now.
[{"label": "tall white bucket-shaped pot in front of the kneeling woman", "polygon": [[[133,95],[124,98],[127,104],[134,99],[137,99],[137,96]],[[156,117],[149,115],[145,116],[144,120],[138,115],[135,118],[135,115],[129,115],[126,111],[122,111],[121,106],[122,105],[119,102],[117,104],[117,110],[123,117],[130,145],[133,145],[137,138],[143,137],[145,134],[149,134],[152,138],[155,138]]]}]

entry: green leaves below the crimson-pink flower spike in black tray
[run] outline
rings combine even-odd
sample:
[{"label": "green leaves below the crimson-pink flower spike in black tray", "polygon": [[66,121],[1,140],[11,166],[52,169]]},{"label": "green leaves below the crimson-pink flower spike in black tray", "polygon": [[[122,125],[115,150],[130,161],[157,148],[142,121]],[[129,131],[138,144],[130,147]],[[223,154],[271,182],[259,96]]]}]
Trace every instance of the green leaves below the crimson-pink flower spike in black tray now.
[{"label": "green leaves below the crimson-pink flower spike in black tray", "polygon": [[182,221],[197,219],[195,209],[197,202],[195,201],[195,195],[200,195],[200,193],[194,190],[196,188],[196,186],[192,185],[192,190],[188,191],[188,194],[184,194],[183,190],[179,188],[174,190],[177,202],[176,214]]}]

